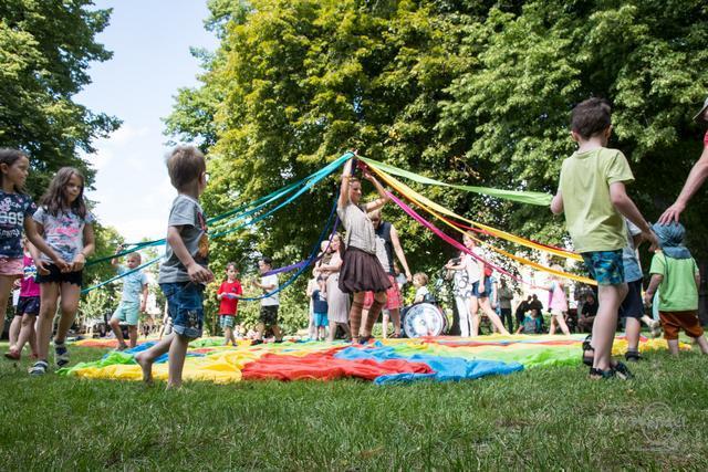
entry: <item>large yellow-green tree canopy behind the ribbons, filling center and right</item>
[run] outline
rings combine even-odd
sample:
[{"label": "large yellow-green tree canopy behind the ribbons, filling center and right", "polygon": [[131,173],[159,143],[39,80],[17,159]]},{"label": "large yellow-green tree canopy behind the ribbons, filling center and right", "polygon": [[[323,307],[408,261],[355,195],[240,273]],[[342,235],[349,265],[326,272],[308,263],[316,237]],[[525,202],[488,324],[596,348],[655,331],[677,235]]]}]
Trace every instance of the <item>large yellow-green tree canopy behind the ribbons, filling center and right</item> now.
[{"label": "large yellow-green tree canopy behind the ribbons, filling center and right", "polygon": [[[699,0],[211,0],[220,38],[201,85],[181,90],[167,133],[209,153],[211,214],[302,178],[348,148],[437,179],[553,192],[573,150],[570,111],[613,104],[611,146],[627,155],[629,188],[649,219],[678,193],[700,154],[690,117],[708,90],[708,6]],[[290,262],[310,249],[335,180],[300,210],[218,244]],[[414,186],[415,187],[415,186]],[[510,232],[559,243],[562,220],[442,188],[425,193]],[[705,196],[705,192],[702,193]],[[706,230],[697,211],[689,230]],[[435,265],[449,254],[386,209],[407,252]],[[690,232],[689,231],[689,232]],[[708,243],[694,240],[702,255]]]}]

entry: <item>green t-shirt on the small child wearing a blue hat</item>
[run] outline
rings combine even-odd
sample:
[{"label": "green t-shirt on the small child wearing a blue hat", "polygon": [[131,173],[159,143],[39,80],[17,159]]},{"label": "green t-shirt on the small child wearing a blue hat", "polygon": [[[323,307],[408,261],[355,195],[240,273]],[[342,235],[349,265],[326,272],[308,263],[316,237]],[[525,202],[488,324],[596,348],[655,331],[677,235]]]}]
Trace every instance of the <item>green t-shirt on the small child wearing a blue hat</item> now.
[{"label": "green t-shirt on the small child wearing a blue hat", "polygon": [[662,274],[659,285],[659,310],[662,312],[686,312],[698,310],[696,274],[698,265],[694,258],[671,259],[657,252],[652,259],[650,274]]}]

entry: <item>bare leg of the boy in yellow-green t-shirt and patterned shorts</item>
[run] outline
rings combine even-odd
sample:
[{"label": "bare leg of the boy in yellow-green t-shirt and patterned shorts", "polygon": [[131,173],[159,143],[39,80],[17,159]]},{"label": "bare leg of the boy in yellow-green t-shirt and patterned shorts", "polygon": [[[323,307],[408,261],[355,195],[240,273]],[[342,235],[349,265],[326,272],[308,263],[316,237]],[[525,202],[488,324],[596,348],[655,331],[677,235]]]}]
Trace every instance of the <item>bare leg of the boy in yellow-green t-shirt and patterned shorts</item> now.
[{"label": "bare leg of the boy in yellow-green t-shirt and patterned shorts", "polygon": [[595,349],[593,367],[607,370],[611,367],[612,343],[617,329],[617,312],[627,295],[627,284],[598,285],[597,289],[600,306],[593,324],[592,345]]}]

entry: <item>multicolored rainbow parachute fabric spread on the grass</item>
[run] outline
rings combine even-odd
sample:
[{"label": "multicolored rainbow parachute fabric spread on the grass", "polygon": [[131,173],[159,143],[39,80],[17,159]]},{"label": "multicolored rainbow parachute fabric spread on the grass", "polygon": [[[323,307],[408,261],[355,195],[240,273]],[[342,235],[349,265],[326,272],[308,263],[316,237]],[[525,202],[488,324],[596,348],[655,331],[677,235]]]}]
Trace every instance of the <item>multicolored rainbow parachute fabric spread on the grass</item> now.
[{"label": "multicolored rainbow parachute fabric spread on the grass", "polygon": [[[192,343],[185,363],[186,380],[217,384],[242,380],[334,380],[358,378],[377,385],[417,380],[458,381],[490,375],[508,375],[544,366],[581,363],[584,335],[435,337],[382,339],[365,346],[345,343],[285,342],[250,346],[222,346],[222,338]],[[123,353],[110,352],[100,360],[81,363],[60,374],[117,380],[139,380],[134,354],[147,349],[146,342]],[[77,346],[110,347],[111,342],[86,339]],[[642,352],[664,349],[663,339],[642,338]],[[684,346],[685,347],[685,346]],[[626,340],[614,343],[614,354],[626,350]],[[153,366],[156,379],[167,378],[167,355]]]}]

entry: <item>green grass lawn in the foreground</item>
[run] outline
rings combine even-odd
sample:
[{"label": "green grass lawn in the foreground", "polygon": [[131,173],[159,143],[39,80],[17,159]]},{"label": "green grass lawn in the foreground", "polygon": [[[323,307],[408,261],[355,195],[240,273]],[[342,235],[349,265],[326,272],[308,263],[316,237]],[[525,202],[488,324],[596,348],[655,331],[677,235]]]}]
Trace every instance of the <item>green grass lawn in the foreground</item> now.
[{"label": "green grass lawn in the foreground", "polygon": [[[0,352],[7,350],[7,343]],[[72,349],[72,360],[102,350]],[[30,378],[0,359],[0,470],[708,470],[708,357],[632,381],[539,368],[461,384]]]}]

